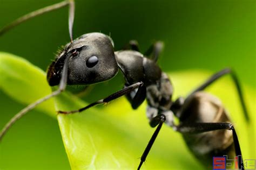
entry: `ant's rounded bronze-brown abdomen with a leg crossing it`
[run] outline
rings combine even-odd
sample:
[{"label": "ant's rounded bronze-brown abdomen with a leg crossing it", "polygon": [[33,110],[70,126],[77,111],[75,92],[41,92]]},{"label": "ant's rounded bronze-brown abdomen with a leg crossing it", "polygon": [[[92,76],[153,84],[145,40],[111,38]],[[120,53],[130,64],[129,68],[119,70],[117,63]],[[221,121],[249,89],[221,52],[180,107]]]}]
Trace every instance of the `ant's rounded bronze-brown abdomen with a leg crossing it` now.
[{"label": "ant's rounded bronze-brown abdomen with a leg crossing it", "polygon": [[[180,125],[196,123],[231,123],[221,101],[208,93],[199,91],[187,98],[181,111]],[[188,148],[206,166],[211,165],[213,157],[235,155],[232,131],[216,130],[204,133],[184,133]]]}]

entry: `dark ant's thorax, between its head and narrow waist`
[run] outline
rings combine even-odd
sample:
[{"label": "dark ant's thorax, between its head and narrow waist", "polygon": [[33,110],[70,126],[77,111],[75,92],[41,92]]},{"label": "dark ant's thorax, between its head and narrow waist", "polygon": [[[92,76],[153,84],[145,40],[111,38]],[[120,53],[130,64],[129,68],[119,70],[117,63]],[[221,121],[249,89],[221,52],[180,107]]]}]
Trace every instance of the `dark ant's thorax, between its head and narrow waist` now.
[{"label": "dark ant's thorax, between its head and narrow waist", "polygon": [[[125,77],[125,86],[142,81],[146,87],[147,117],[150,119],[159,114],[166,116],[166,124],[173,125],[171,108],[172,84],[169,77],[161,71],[156,62],[146,58],[137,51],[125,50],[115,52],[118,66]],[[126,97],[131,102],[137,94],[133,90]]]}]

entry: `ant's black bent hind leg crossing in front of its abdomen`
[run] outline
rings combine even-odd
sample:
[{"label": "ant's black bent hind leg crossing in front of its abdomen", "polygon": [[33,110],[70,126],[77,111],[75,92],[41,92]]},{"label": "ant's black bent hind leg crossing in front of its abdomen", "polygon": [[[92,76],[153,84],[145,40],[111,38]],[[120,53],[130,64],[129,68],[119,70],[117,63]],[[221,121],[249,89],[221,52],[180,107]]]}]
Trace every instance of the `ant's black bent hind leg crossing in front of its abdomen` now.
[{"label": "ant's black bent hind leg crossing in front of its abdomen", "polygon": [[[237,133],[235,132],[234,126],[231,123],[194,123],[194,124],[184,124],[176,126],[176,131],[181,133],[202,133],[202,132],[208,132],[213,130],[232,130],[233,133],[233,141],[234,141],[234,147],[235,147],[235,154],[237,156],[241,155],[242,153],[237,137]],[[244,164],[241,160],[239,160],[239,165],[241,165],[241,169],[244,169]]]}]

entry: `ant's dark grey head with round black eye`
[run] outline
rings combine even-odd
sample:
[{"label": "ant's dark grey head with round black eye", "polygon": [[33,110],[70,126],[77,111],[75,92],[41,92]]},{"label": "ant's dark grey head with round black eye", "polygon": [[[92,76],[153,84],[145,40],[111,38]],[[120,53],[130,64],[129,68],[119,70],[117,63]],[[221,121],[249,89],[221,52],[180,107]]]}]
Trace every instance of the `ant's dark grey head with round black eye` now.
[{"label": "ant's dark grey head with round black eye", "polygon": [[67,44],[51,63],[47,73],[50,86],[59,84],[65,58],[70,53],[69,85],[103,82],[118,72],[112,39],[102,33],[87,33]]}]

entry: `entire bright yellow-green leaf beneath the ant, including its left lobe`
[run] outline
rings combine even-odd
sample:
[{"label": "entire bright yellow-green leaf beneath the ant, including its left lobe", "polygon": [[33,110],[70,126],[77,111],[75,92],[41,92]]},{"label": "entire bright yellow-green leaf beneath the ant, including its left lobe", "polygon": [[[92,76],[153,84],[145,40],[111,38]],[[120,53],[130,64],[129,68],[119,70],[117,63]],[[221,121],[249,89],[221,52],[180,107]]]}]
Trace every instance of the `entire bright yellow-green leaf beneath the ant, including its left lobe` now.
[{"label": "entire bright yellow-green leaf beneath the ant, including its left lobe", "polygon": [[[15,100],[28,104],[50,94],[45,74],[15,55],[0,53],[0,87]],[[185,96],[210,74],[201,70],[170,73],[174,97]],[[244,84],[243,84],[244,85]],[[208,88],[221,98],[238,132],[244,159],[255,158],[255,89],[245,87],[245,97],[251,123],[242,116],[237,93],[230,78],[217,81]],[[105,96],[102,96],[105,97]],[[73,110],[87,103],[70,93],[55,97],[57,110]],[[60,131],[72,169],[121,168],[136,169],[139,159],[154,129],[145,116],[146,103],[132,110],[124,97],[104,107],[95,107],[80,114],[58,115]],[[53,102],[41,104],[38,109],[54,114]],[[251,148],[254,148],[252,150]],[[203,169],[188,151],[181,134],[163,126],[147,157],[143,169]]]}]

